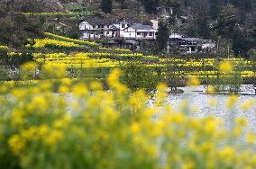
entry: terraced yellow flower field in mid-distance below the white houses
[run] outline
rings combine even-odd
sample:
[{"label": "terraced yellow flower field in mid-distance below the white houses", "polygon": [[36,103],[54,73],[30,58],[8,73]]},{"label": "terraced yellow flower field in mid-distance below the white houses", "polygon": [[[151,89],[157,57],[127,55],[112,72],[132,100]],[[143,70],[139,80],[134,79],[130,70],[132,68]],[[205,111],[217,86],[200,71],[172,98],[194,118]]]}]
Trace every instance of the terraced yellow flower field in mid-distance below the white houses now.
[{"label": "terraced yellow flower field in mid-distance below the white houses", "polygon": [[[31,40],[31,44],[27,45],[27,48],[32,50],[35,62],[39,65],[65,65],[69,70],[94,68],[101,71],[101,78],[105,78],[111,68],[122,67],[127,63],[140,64],[149,71],[156,72],[163,79],[170,78],[169,74],[171,78],[184,79],[197,76],[201,82],[211,84],[216,78],[225,78],[234,74],[241,76],[246,83],[256,78],[255,61],[243,58],[159,58],[133,53],[129,49],[101,48],[93,41],[73,40],[49,32],[45,32],[44,35],[47,38]],[[8,56],[19,58],[23,54],[9,52]],[[222,74],[218,71],[220,62],[228,62],[234,69],[229,74]],[[223,67],[227,66],[223,65]],[[31,84],[31,80],[38,79],[32,78],[29,83],[22,84]]]}]

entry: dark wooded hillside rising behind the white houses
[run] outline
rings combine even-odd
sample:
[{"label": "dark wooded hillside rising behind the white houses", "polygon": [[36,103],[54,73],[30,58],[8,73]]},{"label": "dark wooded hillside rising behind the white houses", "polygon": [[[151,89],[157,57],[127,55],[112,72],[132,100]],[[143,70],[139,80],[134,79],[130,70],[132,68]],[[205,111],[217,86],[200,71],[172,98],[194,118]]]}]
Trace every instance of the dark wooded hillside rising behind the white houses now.
[{"label": "dark wooded hillside rising behind the white houses", "polygon": [[243,58],[255,52],[255,0],[5,0],[0,5],[0,43],[15,49],[23,49],[27,39],[41,37],[44,31],[79,38],[78,22],[91,17],[128,17],[146,24],[165,17],[169,33],[215,40],[220,49],[228,46]]}]

